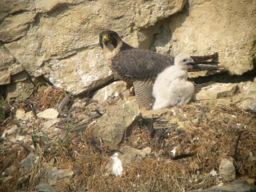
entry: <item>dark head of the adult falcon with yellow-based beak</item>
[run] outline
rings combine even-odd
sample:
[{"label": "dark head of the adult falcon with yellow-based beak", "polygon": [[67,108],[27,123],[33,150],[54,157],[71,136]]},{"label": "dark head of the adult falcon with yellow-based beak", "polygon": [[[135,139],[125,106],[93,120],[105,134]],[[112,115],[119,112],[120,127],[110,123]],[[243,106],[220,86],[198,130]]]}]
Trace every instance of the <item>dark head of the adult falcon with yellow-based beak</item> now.
[{"label": "dark head of the adult falcon with yellow-based beak", "polygon": [[109,51],[113,51],[118,43],[121,42],[122,39],[115,31],[105,30],[100,33],[100,46],[102,49],[107,47]]}]

